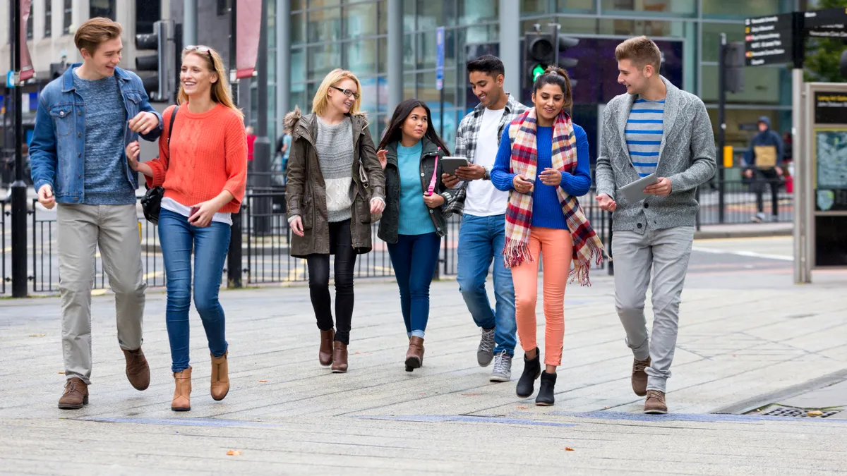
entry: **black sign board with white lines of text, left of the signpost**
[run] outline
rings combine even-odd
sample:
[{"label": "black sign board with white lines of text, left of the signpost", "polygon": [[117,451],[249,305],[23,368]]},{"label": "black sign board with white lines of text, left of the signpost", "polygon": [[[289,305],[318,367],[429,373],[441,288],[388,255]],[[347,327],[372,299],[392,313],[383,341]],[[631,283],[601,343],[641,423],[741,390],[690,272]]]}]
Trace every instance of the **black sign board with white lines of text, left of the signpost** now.
[{"label": "black sign board with white lines of text, left of the signpost", "polygon": [[745,64],[786,64],[791,61],[794,14],[745,19]]}]

